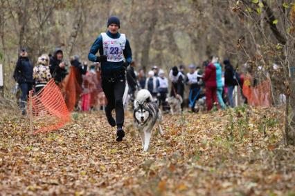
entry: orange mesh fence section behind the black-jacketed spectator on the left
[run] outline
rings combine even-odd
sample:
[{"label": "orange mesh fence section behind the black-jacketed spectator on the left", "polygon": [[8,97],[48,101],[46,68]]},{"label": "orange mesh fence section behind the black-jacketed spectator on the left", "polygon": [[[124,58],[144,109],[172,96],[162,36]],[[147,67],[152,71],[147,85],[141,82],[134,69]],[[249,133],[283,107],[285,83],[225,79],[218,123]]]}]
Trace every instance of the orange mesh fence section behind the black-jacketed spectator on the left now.
[{"label": "orange mesh fence section behind the black-jacketed spectator on the left", "polygon": [[82,93],[82,76],[78,68],[70,67],[69,75],[62,81],[62,94],[64,95],[64,101],[69,111],[73,111],[77,106]]}]

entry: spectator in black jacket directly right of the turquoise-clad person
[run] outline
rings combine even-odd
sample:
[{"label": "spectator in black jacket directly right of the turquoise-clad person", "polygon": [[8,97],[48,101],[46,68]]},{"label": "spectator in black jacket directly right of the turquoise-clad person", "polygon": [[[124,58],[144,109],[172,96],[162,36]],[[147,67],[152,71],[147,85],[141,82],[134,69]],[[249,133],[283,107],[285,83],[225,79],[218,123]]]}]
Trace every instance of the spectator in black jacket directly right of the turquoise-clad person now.
[{"label": "spectator in black jacket directly right of the turquoise-clad person", "polygon": [[231,106],[231,108],[233,108],[235,107],[235,103],[233,102],[233,90],[235,89],[235,85],[237,85],[237,82],[234,79],[235,70],[233,70],[233,66],[231,65],[229,59],[225,59],[223,63],[225,66],[224,83],[227,86],[227,96],[229,97],[229,105]]}]

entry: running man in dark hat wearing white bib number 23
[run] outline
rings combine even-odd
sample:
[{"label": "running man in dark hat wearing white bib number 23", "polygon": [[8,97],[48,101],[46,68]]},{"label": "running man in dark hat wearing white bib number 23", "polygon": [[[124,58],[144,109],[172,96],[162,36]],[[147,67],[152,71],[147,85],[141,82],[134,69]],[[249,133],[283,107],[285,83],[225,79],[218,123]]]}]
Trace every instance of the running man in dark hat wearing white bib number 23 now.
[{"label": "running man in dark hat wearing white bib number 23", "polygon": [[[125,34],[120,34],[120,20],[109,17],[107,32],[102,32],[90,48],[89,61],[99,62],[102,77],[102,90],[107,97],[105,115],[111,126],[117,126],[116,141],[125,136],[123,95],[125,92],[125,75],[127,66],[132,62],[132,50]],[[96,56],[96,53],[99,55]],[[116,121],[111,111],[116,110]]]}]

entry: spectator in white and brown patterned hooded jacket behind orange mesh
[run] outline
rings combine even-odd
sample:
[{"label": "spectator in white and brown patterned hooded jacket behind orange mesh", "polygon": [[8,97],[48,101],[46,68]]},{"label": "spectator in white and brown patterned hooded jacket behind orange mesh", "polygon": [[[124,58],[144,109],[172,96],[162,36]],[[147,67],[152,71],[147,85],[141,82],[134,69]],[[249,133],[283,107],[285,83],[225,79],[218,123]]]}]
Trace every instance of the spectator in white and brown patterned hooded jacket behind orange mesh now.
[{"label": "spectator in white and brown patterned hooded jacket behind orange mesh", "polygon": [[33,78],[35,81],[35,93],[42,90],[51,79],[48,55],[42,55],[38,58],[37,66],[33,69]]}]

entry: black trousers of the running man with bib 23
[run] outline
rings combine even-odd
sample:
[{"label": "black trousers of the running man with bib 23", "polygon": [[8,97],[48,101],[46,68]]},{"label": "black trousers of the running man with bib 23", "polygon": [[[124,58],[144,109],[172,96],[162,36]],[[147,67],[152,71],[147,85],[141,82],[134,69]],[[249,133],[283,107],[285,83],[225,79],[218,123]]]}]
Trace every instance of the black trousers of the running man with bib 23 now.
[{"label": "black trousers of the running man with bib 23", "polygon": [[107,97],[107,106],[105,107],[105,115],[109,117],[112,110],[116,110],[116,125],[122,127],[124,124],[124,107],[123,95],[125,91],[125,79],[109,81],[102,79],[102,90]]}]

